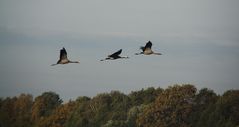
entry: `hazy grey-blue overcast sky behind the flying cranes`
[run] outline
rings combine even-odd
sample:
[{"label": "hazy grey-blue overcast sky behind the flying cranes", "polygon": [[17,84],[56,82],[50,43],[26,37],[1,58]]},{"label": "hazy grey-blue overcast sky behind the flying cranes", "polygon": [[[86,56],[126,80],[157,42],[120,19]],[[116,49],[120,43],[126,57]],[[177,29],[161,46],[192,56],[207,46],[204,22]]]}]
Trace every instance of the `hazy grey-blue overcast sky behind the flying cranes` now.
[{"label": "hazy grey-blue overcast sky behind the flying cranes", "polygon": [[[239,89],[238,0],[0,0],[0,96]],[[162,56],[135,56],[151,40]],[[65,47],[80,64],[50,66]],[[130,59],[99,61],[123,49]]]}]

